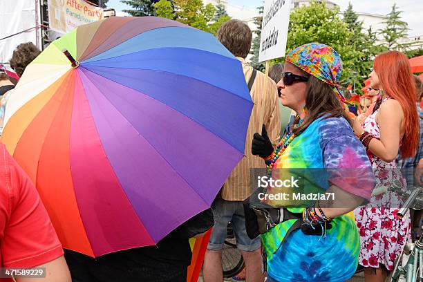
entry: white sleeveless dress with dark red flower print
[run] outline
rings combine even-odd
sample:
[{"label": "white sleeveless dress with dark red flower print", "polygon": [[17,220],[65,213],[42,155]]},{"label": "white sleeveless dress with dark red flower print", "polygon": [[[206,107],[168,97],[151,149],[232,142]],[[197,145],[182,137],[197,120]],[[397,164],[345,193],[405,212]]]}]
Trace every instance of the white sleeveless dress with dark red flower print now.
[{"label": "white sleeveless dress with dark red flower print", "polygon": [[[364,130],[379,139],[376,115],[377,111],[366,118]],[[396,215],[403,201],[395,190],[405,189],[406,182],[395,160],[384,162],[370,151],[368,157],[376,176],[376,187],[370,203],[354,212],[361,244],[359,264],[364,267],[384,265],[391,271],[395,259],[411,238],[409,213],[402,219]]]}]

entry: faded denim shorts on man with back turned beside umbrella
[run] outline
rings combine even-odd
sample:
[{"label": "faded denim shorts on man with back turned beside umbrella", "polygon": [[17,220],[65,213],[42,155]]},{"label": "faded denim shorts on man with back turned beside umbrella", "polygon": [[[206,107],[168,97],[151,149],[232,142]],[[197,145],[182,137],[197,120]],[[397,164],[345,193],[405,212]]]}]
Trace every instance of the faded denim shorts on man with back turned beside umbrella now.
[{"label": "faded denim shorts on man with back turned beside umbrella", "polygon": [[222,250],[227,237],[227,224],[232,222],[236,238],[236,247],[245,252],[253,252],[260,248],[260,237],[250,239],[245,229],[243,202],[218,199],[213,209],[214,227],[207,245],[208,250]]}]

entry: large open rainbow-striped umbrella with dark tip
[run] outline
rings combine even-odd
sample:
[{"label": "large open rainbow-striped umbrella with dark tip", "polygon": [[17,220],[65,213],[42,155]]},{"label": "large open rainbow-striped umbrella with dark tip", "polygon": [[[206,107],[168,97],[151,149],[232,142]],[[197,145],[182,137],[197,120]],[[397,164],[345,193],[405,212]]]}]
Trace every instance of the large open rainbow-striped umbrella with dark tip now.
[{"label": "large open rainbow-striped umbrella with dark tip", "polygon": [[207,209],[243,157],[252,106],[241,62],[209,33],[111,17],[26,68],[1,138],[64,247],[101,256]]}]

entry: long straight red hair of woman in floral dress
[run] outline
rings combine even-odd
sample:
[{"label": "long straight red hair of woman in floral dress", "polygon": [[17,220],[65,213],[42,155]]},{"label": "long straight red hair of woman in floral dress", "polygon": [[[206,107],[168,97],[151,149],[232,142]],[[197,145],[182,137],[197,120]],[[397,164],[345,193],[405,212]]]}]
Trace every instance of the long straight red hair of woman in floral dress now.
[{"label": "long straight red hair of woman in floral dress", "polygon": [[415,105],[416,89],[408,58],[401,52],[388,51],[376,57],[374,68],[382,89],[389,97],[400,102],[404,111],[402,158],[415,156],[420,143],[420,131]]}]

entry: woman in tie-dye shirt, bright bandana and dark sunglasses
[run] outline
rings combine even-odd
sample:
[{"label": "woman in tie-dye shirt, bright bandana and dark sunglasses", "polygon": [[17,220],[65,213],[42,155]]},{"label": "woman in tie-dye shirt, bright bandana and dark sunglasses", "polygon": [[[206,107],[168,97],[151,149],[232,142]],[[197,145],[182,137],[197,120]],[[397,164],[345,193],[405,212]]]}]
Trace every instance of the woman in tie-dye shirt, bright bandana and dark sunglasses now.
[{"label": "woman in tie-dye shirt, bright bandana and dark sunglasses", "polygon": [[[341,70],[341,58],[324,44],[288,53],[277,85],[297,118],[276,148],[264,128],[254,136],[252,151],[265,159],[272,179],[301,179],[298,188],[267,187],[261,200],[281,208],[279,224],[262,235],[267,281],[346,281],[357,268],[359,234],[351,212],[370,199],[375,178],[337,89]],[[281,192],[288,196],[271,200]],[[330,196],[322,199],[325,193]]]}]

